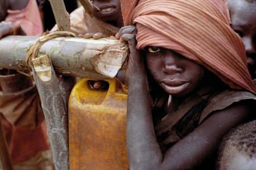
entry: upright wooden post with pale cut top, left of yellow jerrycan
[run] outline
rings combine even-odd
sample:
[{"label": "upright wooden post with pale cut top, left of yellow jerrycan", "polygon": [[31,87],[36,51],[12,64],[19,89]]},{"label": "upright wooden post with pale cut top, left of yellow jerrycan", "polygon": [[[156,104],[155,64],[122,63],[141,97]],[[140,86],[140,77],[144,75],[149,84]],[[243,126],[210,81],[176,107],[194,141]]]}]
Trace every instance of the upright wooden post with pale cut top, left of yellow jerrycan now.
[{"label": "upright wooden post with pale cut top, left of yellow jerrycan", "polygon": [[69,169],[68,111],[59,80],[47,55],[32,60],[32,73],[46,118],[53,163],[56,170]]}]

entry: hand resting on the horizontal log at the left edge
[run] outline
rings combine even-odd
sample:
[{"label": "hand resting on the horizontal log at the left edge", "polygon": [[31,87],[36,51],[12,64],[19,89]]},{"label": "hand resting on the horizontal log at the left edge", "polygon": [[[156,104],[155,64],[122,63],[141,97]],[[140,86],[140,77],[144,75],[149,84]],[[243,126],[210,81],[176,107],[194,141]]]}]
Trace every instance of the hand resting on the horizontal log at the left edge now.
[{"label": "hand resting on the horizontal log at the left edge", "polygon": [[0,23],[0,39],[6,35],[26,35],[23,29],[20,27],[19,22],[1,22]]}]

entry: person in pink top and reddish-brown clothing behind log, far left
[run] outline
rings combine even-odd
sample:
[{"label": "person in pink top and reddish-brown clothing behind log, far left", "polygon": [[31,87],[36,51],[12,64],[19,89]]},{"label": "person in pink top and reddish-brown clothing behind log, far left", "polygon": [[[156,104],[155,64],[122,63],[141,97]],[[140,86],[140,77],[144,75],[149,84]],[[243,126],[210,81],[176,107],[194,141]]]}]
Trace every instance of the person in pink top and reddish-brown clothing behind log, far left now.
[{"label": "person in pink top and reddish-brown clothing behind log, far left", "polygon": [[[42,33],[35,0],[2,0],[0,9],[0,21],[6,21],[0,23],[0,38],[10,33],[23,35],[26,32],[29,36]],[[43,152],[49,150],[46,128],[41,126],[43,112],[36,86],[31,80],[15,70],[0,69],[0,121],[3,122],[14,169],[44,169],[48,162],[43,158]],[[35,106],[38,108],[34,109]]]}]

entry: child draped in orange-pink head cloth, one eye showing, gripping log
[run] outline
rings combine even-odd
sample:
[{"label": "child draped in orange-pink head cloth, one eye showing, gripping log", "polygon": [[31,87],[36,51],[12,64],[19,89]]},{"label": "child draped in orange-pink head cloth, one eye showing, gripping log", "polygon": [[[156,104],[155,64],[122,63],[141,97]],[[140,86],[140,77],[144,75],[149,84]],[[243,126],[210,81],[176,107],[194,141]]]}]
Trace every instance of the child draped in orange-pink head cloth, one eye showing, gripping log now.
[{"label": "child draped in orange-pink head cloth, one eye showing, gripping log", "polygon": [[130,169],[214,168],[222,136],[251,120],[256,99],[224,1],[121,4],[125,25],[136,25],[116,35],[130,47]]}]

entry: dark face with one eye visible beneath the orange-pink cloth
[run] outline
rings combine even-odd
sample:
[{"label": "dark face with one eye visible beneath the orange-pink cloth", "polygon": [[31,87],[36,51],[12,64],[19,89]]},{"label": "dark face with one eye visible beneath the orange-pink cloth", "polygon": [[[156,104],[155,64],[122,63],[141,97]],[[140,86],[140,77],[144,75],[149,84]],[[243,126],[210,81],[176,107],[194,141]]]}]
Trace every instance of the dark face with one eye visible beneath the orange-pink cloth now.
[{"label": "dark face with one eye visible beneath the orange-pink cloth", "polygon": [[185,96],[195,90],[204,75],[201,65],[172,50],[150,46],[146,63],[155,81],[173,96]]}]

